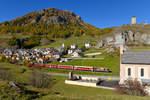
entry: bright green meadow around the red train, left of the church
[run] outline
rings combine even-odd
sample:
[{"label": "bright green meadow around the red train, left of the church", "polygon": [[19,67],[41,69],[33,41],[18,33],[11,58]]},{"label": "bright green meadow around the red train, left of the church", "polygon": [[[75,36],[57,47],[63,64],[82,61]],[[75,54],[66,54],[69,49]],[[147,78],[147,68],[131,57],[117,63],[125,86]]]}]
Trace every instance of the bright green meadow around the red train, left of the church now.
[{"label": "bright green meadow around the red train, left of the church", "polygon": [[[101,54],[98,57],[104,57],[104,59],[75,59],[69,62],[52,62],[49,64],[57,65],[77,65],[77,66],[93,66],[93,67],[106,67],[109,68],[112,73],[92,73],[83,71],[74,71],[76,74],[88,74],[88,75],[109,75],[109,76],[119,76],[120,72],[120,58],[119,56],[108,56],[108,54]],[[69,70],[58,70],[49,69],[50,72],[68,73]]]}]

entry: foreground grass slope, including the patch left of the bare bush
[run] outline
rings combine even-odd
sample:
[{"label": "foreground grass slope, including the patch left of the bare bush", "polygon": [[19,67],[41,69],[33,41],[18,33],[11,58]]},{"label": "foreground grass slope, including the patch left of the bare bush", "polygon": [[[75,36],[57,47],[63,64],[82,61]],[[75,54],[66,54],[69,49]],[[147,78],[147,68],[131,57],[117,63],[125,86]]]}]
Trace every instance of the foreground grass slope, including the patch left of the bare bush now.
[{"label": "foreground grass slope, including the patch left of the bare bush", "polygon": [[[8,63],[0,63],[0,68],[9,68],[18,82],[27,83],[31,74],[31,68],[26,66],[17,66]],[[24,73],[21,73],[26,69]],[[64,81],[67,77],[52,76],[55,79],[55,84],[48,89],[37,89],[27,87],[30,90],[46,93],[46,95],[35,100],[149,100],[150,97],[119,95],[113,90],[82,87],[75,85],[65,84]],[[7,85],[6,82],[0,81],[0,87]]]}]

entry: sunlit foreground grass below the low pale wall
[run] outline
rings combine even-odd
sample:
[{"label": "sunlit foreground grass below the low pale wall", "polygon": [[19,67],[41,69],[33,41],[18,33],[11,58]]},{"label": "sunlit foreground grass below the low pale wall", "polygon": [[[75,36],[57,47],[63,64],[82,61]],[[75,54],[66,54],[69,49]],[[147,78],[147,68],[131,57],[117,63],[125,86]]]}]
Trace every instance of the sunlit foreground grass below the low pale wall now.
[{"label": "sunlit foreground grass below the low pale wall", "polygon": [[149,100],[150,97],[138,97],[128,95],[118,95],[114,90],[82,87],[64,84],[65,77],[56,77],[59,80],[52,88],[60,94],[47,95],[38,100],[66,99],[66,100]]}]

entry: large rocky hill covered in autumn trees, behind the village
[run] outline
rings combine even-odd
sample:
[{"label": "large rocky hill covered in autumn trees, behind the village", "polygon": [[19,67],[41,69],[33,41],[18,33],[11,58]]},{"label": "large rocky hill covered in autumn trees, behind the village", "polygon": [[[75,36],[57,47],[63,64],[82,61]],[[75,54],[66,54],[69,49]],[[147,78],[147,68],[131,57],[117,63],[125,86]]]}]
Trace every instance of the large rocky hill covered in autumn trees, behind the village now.
[{"label": "large rocky hill covered in autumn trees, behind the village", "polygon": [[100,29],[84,23],[73,12],[48,8],[0,23],[0,33],[47,34],[49,38],[64,38],[100,34]]}]

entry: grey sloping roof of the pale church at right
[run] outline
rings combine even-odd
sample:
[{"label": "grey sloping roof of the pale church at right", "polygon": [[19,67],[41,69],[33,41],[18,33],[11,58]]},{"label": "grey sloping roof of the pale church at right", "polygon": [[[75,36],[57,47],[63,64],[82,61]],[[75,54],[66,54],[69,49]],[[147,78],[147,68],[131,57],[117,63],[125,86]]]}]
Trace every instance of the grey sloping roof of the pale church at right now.
[{"label": "grey sloping roof of the pale church at right", "polygon": [[150,50],[125,51],[123,64],[150,64]]}]

